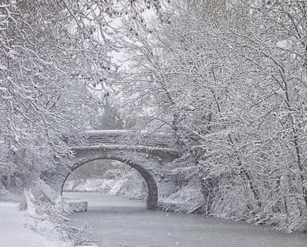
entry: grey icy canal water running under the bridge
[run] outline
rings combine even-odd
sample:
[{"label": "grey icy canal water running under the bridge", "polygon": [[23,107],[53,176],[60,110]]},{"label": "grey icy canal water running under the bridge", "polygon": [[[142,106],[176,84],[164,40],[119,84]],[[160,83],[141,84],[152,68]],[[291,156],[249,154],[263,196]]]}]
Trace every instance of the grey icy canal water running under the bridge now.
[{"label": "grey icy canal water running under the bridge", "polygon": [[145,202],[101,193],[64,193],[88,200],[88,212],[70,215],[69,225],[90,224],[84,237],[100,247],[307,247],[307,234],[286,234],[252,226],[178,213],[147,210]]}]

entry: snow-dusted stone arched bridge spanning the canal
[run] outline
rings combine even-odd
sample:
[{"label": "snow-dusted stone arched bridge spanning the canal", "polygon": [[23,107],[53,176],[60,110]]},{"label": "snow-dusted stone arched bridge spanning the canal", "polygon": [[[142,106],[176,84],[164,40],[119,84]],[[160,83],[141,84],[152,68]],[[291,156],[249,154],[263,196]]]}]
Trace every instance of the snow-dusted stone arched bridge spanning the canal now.
[{"label": "snow-dusted stone arched bridge spanning the canal", "polygon": [[71,172],[97,159],[114,159],[136,169],[148,185],[148,209],[157,209],[164,188],[172,187],[171,175],[165,173],[164,166],[178,159],[180,152],[171,135],[126,130],[86,131],[83,138],[66,138],[66,141],[71,145],[73,158],[69,168],[59,165],[52,176],[52,186],[58,191],[63,190]]}]

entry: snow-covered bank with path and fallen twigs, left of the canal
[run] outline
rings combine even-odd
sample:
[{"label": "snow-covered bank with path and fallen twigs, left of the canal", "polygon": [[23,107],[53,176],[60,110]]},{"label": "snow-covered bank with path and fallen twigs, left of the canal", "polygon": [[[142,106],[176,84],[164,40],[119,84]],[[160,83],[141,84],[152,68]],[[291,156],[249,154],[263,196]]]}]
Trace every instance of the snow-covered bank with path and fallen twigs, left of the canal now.
[{"label": "snow-covered bank with path and fallen twigs, left of the canal", "polygon": [[81,229],[66,225],[73,210],[44,181],[34,181],[23,193],[5,192],[0,198],[1,247],[72,247],[85,241]]}]

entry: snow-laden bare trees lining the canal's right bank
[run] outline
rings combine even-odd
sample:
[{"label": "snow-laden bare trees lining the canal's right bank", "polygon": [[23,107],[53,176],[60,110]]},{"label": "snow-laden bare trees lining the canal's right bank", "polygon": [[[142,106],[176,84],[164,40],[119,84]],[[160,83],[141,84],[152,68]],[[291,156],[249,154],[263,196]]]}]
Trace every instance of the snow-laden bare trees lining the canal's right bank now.
[{"label": "snow-laden bare trees lining the canal's right bank", "polygon": [[306,3],[171,9],[167,22],[134,25],[138,35],[127,28],[129,102],[193,157],[205,212],[306,230]]}]

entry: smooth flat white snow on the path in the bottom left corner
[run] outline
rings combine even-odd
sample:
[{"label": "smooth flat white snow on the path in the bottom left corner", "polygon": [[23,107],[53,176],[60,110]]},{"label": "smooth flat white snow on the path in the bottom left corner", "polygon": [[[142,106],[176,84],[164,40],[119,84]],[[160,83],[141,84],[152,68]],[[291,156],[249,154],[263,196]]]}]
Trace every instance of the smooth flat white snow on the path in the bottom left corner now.
[{"label": "smooth flat white snow on the path in the bottom left corner", "polygon": [[1,247],[68,247],[68,243],[52,241],[30,228],[30,218],[18,211],[18,203],[0,202]]}]

